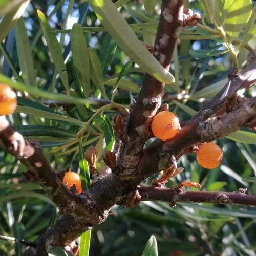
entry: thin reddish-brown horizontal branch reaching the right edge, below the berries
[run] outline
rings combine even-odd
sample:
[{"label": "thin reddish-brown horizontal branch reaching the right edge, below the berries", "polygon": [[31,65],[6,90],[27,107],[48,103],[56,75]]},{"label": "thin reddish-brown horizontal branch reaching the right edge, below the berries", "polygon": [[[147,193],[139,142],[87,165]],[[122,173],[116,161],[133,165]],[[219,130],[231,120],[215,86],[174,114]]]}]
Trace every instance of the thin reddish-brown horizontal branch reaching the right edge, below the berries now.
[{"label": "thin reddish-brown horizontal branch reaching the right edge, below the berries", "polygon": [[142,201],[237,204],[256,207],[256,196],[243,192],[177,191],[175,188],[137,187]]}]

